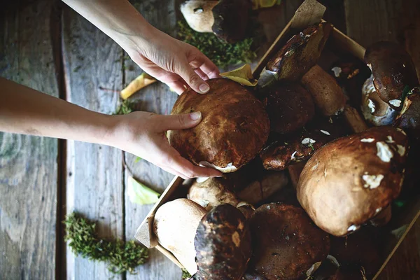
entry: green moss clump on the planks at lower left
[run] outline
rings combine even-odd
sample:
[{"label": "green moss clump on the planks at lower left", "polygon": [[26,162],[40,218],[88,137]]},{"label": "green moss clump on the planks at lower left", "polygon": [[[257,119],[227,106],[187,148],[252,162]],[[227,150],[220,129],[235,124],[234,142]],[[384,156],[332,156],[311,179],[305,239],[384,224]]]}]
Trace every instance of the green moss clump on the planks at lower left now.
[{"label": "green moss clump on the planks at lower left", "polygon": [[132,241],[99,239],[96,224],[87,221],[80,214],[66,216],[65,241],[69,241],[71,251],[90,260],[108,262],[108,269],[113,273],[134,272],[134,268],[144,264],[148,250]]}]

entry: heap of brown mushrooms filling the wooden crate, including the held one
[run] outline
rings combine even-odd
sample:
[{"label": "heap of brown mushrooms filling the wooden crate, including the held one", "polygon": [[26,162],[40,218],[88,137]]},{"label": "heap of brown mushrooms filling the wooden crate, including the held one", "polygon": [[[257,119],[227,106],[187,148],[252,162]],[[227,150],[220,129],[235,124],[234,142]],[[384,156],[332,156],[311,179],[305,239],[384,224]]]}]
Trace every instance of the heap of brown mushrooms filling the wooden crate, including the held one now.
[{"label": "heap of brown mushrooms filling the wooden crate, including the held one", "polygon": [[[186,1],[183,13],[201,5],[207,27],[189,23],[214,31],[222,3],[230,1]],[[201,111],[203,119],[168,132],[169,144],[224,173],[194,179],[187,198],[154,217],[158,242],[191,279],[367,279],[377,271],[378,232],[420,154],[412,148],[419,82],[409,55],[388,42],[366,51],[372,76],[355,68],[363,62],[328,73],[318,59],[331,29],[322,22],[295,34],[255,89],[216,78],[208,94],[188,89],[176,101],[172,114]]]}]

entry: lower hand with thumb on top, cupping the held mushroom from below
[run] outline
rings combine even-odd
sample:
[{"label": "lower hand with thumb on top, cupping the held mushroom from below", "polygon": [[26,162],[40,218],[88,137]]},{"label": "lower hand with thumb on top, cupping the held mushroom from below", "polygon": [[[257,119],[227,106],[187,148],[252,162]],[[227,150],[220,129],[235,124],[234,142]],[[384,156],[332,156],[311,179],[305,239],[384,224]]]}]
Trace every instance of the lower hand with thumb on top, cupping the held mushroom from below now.
[{"label": "lower hand with thumb on top, cupping the held mushroom from below", "polygon": [[200,112],[183,115],[157,115],[133,112],[118,118],[111,135],[112,146],[138,155],[165,171],[183,179],[222,176],[216,169],[193,165],[169,145],[167,130],[195,127],[202,120]]}]

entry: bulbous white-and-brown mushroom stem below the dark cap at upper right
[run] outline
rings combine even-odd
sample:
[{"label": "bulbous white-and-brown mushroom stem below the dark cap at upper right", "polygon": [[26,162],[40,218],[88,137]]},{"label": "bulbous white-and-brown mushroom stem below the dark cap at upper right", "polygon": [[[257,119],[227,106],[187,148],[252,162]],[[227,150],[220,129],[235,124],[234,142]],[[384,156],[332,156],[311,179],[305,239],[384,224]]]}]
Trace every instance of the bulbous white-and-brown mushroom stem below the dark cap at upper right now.
[{"label": "bulbous white-and-brown mushroom stem below the dark cap at upper right", "polygon": [[377,94],[373,85],[373,75],[363,84],[361,110],[365,120],[374,126],[392,125],[398,115],[398,112]]}]

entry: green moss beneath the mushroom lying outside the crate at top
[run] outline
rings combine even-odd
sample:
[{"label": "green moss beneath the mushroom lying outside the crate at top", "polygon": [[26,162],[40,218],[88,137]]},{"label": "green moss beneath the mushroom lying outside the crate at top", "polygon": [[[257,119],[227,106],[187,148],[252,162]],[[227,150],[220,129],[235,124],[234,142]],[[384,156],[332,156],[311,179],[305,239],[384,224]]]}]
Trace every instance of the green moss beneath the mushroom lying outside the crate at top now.
[{"label": "green moss beneath the mushroom lying outside the crate at top", "polygon": [[257,57],[252,45],[255,38],[245,38],[237,43],[226,43],[213,33],[200,33],[191,29],[185,21],[178,22],[178,38],[194,45],[217,66],[224,68],[240,63],[251,63]]}]

